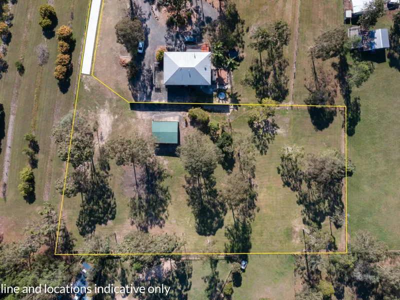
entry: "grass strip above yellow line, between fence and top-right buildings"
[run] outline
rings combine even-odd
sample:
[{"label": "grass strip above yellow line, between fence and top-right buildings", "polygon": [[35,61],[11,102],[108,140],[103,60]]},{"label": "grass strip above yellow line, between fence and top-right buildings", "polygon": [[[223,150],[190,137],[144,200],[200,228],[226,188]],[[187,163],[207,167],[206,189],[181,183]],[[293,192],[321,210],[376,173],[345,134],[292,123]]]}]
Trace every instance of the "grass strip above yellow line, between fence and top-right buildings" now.
[{"label": "grass strip above yellow line, between fence and top-right buildings", "polygon": [[[298,36],[296,79],[294,81],[294,103],[304,104],[304,99],[308,91],[304,86],[304,78],[311,73],[311,59],[308,49],[313,45],[314,38],[322,30],[329,26],[337,26],[343,23],[343,1],[301,1],[300,4],[300,29]],[[330,64],[333,59],[322,62],[315,59],[316,65],[322,64],[325,71],[333,71]],[[332,78],[333,79],[333,78]],[[333,79],[334,80],[334,79]],[[340,95],[338,95],[340,97]],[[336,100],[336,104],[342,104],[341,100]]]}]

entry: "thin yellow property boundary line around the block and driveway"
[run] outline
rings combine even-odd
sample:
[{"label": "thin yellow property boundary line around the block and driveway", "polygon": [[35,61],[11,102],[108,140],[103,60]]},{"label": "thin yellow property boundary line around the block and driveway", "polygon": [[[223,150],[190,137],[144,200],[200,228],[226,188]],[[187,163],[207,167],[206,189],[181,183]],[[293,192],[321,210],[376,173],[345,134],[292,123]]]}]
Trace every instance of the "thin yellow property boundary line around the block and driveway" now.
[{"label": "thin yellow property boundary line around the block and driveway", "polygon": [[87,23],[89,20],[89,13],[90,13],[90,4],[91,0],[89,0],[88,4],[88,11],[87,11],[87,18],[86,18],[86,28],[85,28],[85,33],[84,33],[84,41],[83,41],[83,50],[82,50],[82,56],[80,60],[80,68],[79,68],[79,79],[78,79],[78,85],[76,89],[76,97],[75,97],[75,105],[74,105],[74,110],[73,110],[73,119],[72,119],[72,127],[71,127],[71,135],[69,139],[69,148],[68,148],[68,157],[66,160],[66,168],[65,168],[65,177],[64,177],[64,187],[62,189],[62,197],[61,197],[61,207],[59,211],[59,217],[58,217],[58,228],[57,228],[57,238],[55,240],[55,248],[54,248],[54,255],[200,255],[200,254],[288,254],[288,255],[294,255],[294,254],[347,254],[347,107],[345,105],[307,105],[307,104],[259,104],[259,103],[235,103],[235,104],[230,104],[230,103],[191,103],[191,102],[136,102],[136,101],[128,101],[124,97],[122,97],[120,94],[118,94],[116,91],[114,91],[112,88],[110,88],[108,85],[106,85],[104,82],[102,82],[100,79],[95,77],[93,75],[93,70],[94,70],[94,62],[96,60],[96,52],[97,52],[97,44],[98,44],[98,36],[100,33],[100,24],[101,24],[101,16],[103,12],[103,7],[104,7],[104,0],[102,0],[101,3],[101,10],[100,10],[100,18],[98,22],[98,29],[97,29],[97,37],[96,37],[96,45],[94,48],[94,58],[93,58],[93,66],[91,69],[91,76],[95,78],[97,81],[99,81],[101,84],[103,84],[105,87],[107,87],[109,90],[114,92],[117,96],[120,98],[124,99],[127,103],[138,103],[138,104],[185,104],[185,105],[237,105],[237,106],[247,106],[247,105],[252,105],[252,106],[305,106],[305,107],[344,107],[344,132],[345,132],[345,137],[344,137],[344,144],[345,144],[345,252],[233,252],[233,253],[225,253],[225,252],[189,252],[189,253],[57,253],[57,243],[58,243],[58,234],[59,234],[59,227],[61,223],[61,212],[62,212],[62,204],[64,202],[64,191],[65,191],[65,183],[66,183],[66,174],[68,171],[68,162],[69,162],[69,152],[71,149],[71,142],[72,142],[72,132],[73,132],[73,124],[75,120],[75,112],[76,112],[76,104],[77,104],[77,99],[78,99],[78,93],[79,93],[79,83],[80,83],[80,76],[81,76],[81,71],[82,71],[82,64],[83,64],[83,54],[84,54],[84,46],[86,42],[86,33],[87,33]]}]

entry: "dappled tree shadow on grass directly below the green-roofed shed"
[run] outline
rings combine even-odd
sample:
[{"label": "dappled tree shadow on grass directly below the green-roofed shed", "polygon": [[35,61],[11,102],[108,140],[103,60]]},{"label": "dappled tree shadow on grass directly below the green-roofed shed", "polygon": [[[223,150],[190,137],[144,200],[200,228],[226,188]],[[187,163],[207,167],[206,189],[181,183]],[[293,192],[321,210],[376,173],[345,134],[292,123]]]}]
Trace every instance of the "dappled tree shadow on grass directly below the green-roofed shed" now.
[{"label": "dappled tree shadow on grass directly below the green-roofed shed", "polygon": [[166,170],[156,159],[147,161],[145,169],[138,178],[139,189],[143,190],[144,197],[138,194],[130,198],[129,214],[131,224],[148,231],[153,226],[162,227],[168,217],[167,207],[171,200],[168,186],[164,180],[169,177]]}]

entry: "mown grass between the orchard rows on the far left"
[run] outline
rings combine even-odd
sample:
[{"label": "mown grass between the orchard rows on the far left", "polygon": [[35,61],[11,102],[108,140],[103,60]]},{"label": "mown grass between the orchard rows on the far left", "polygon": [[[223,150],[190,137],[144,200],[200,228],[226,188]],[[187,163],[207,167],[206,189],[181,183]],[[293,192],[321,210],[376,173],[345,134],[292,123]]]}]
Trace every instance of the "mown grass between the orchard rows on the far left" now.
[{"label": "mown grass between the orchard rows on the far left", "polygon": [[[25,44],[21,44],[22,29],[26,19],[29,5],[32,7],[31,22],[29,25],[28,36]],[[58,119],[74,104],[74,84],[75,76],[79,72],[78,56],[81,45],[81,37],[84,33],[86,22],[87,4],[86,1],[68,0],[54,1],[54,8],[57,12],[58,26],[70,22],[73,34],[76,38],[75,51],[72,54],[73,73],[70,77],[71,85],[66,93],[59,90],[57,80],[53,76],[54,60],[57,55],[57,39],[52,37],[46,40],[42,34],[41,27],[38,25],[38,7],[45,1],[19,1],[13,6],[13,26],[11,27],[12,39],[8,47],[8,54],[5,57],[8,61],[8,72],[0,80],[0,98],[3,99],[5,108],[5,122],[8,122],[9,104],[12,98],[12,86],[14,84],[16,71],[14,61],[18,59],[18,52],[21,47],[26,47],[23,65],[25,73],[21,78],[19,97],[17,100],[17,111],[15,115],[12,152],[8,173],[7,197],[0,201],[0,218],[3,226],[4,237],[12,240],[20,236],[22,229],[28,224],[29,220],[37,216],[37,210],[43,203],[44,189],[47,180],[50,180],[50,191],[48,199],[57,206],[59,196],[53,189],[54,181],[64,172],[64,164],[57,158],[53,158],[54,153],[50,153],[50,140],[53,127],[53,119]],[[71,19],[71,14],[73,15]],[[49,52],[48,63],[42,68],[37,65],[36,48],[38,44],[46,43]],[[41,80],[38,80],[40,78]],[[37,106],[34,108],[34,97],[37,98]],[[31,126],[34,122],[35,125]],[[19,194],[17,186],[19,184],[19,171],[26,165],[26,157],[21,150],[26,146],[23,134],[30,129],[35,131],[40,147],[38,167],[35,173],[35,201],[28,204]],[[1,144],[5,147],[5,139]],[[1,165],[5,151],[1,152]],[[1,168],[2,171],[2,168]]]}]

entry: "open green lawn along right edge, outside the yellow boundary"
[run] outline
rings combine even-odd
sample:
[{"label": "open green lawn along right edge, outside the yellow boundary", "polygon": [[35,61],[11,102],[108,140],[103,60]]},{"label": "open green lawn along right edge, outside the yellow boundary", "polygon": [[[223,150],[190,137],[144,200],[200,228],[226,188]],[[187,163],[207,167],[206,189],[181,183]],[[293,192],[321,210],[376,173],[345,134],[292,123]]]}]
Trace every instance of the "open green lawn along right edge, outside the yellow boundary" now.
[{"label": "open green lawn along right edge, outside the yellow boundary", "polygon": [[[389,28],[388,16],[379,19],[376,28]],[[347,138],[348,156],[356,165],[348,178],[349,240],[357,230],[366,229],[400,249],[398,201],[400,190],[400,73],[388,59],[375,63],[368,81],[354,88],[359,96],[360,122],[353,136]]]}]

